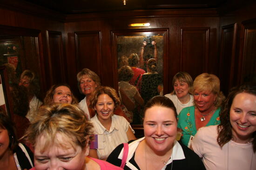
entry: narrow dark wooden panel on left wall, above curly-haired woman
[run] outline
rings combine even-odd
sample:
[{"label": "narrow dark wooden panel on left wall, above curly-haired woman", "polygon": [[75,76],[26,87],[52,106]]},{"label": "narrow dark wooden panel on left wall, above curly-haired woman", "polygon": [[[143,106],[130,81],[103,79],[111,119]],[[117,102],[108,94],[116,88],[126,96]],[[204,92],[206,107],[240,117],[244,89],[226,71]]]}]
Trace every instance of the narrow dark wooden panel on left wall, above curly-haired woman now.
[{"label": "narrow dark wooden panel on left wall, above curly-haired woman", "polygon": [[51,84],[66,82],[61,32],[47,30],[47,51]]}]

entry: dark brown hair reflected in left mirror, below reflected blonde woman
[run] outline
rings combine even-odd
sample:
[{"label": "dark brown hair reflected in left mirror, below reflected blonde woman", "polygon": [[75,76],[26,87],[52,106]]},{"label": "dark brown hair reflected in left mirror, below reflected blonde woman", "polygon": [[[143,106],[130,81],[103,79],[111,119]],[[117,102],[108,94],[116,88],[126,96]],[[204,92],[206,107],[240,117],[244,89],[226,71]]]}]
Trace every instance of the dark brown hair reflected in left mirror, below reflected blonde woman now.
[{"label": "dark brown hair reflected in left mirror, below reflected blonde woman", "polygon": [[13,104],[13,113],[25,117],[29,111],[27,88],[24,86],[19,86],[16,83],[11,83],[10,87],[12,87],[10,94]]}]

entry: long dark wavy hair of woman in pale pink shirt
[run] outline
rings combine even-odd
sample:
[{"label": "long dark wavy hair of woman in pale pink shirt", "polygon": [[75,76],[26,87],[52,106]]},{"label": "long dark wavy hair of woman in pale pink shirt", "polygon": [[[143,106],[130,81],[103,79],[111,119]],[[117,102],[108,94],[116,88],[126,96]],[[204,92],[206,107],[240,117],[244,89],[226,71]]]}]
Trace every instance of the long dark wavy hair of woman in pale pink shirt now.
[{"label": "long dark wavy hair of woman in pale pink shirt", "polygon": [[[232,126],[230,124],[230,108],[237,94],[248,93],[256,96],[256,85],[242,85],[231,88],[227,99],[223,102],[220,113],[220,125],[218,125],[217,142],[223,145],[232,139]],[[256,131],[253,132],[253,151],[256,152]]]}]

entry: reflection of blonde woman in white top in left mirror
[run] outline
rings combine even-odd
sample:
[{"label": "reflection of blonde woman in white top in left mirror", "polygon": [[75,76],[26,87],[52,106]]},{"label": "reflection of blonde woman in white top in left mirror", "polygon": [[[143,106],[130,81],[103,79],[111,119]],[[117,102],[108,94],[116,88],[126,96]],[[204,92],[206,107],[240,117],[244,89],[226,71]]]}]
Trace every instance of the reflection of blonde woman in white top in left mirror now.
[{"label": "reflection of blonde woman in white top in left mirror", "polygon": [[35,77],[33,71],[24,70],[20,76],[19,85],[27,88],[29,111],[26,117],[29,121],[32,121],[34,113],[37,112],[42,105],[42,102],[36,97],[40,92],[38,79]]}]

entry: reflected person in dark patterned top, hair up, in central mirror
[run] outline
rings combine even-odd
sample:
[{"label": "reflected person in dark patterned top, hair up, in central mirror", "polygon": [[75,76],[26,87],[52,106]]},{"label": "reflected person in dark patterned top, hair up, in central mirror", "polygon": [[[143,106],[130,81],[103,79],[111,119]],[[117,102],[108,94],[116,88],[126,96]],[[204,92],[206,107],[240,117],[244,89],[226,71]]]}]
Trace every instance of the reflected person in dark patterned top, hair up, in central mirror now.
[{"label": "reflected person in dark patterned top, hair up, in central mirror", "polygon": [[147,63],[148,72],[139,76],[136,80],[136,87],[141,93],[141,97],[145,102],[155,95],[159,95],[158,86],[162,84],[162,76],[156,71],[156,60],[151,58]]}]

